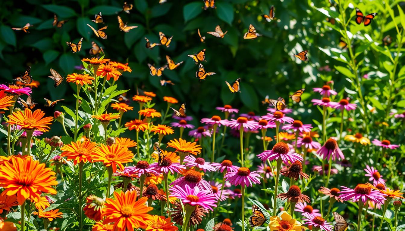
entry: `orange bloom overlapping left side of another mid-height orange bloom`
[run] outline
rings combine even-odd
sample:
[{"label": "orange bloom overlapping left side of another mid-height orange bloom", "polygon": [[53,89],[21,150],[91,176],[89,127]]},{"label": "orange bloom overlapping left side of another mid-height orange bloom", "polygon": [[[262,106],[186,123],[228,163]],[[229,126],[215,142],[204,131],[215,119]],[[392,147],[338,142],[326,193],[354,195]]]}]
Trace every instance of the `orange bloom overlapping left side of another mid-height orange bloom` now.
[{"label": "orange bloom overlapping left side of another mid-height orange bloom", "polygon": [[97,146],[96,142],[86,141],[76,141],[70,144],[65,144],[60,150],[62,151],[61,156],[67,157],[67,160],[73,160],[73,163],[86,163],[91,161],[90,155],[94,153],[94,149]]}]

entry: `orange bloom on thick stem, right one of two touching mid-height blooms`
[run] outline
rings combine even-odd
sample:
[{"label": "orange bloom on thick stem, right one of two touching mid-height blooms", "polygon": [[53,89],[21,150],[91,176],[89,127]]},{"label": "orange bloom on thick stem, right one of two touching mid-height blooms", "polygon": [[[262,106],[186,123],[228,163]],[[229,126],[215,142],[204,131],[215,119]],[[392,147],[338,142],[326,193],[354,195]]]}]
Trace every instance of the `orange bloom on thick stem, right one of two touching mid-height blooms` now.
[{"label": "orange bloom on thick stem, right one of two touching mid-height blooms", "polygon": [[102,162],[104,166],[111,166],[113,172],[117,171],[117,165],[120,169],[124,170],[122,163],[132,162],[134,154],[128,150],[127,147],[123,147],[119,144],[113,144],[111,146],[105,146],[101,144],[95,148],[94,153],[91,154],[92,162]]}]

